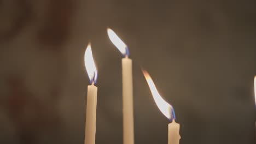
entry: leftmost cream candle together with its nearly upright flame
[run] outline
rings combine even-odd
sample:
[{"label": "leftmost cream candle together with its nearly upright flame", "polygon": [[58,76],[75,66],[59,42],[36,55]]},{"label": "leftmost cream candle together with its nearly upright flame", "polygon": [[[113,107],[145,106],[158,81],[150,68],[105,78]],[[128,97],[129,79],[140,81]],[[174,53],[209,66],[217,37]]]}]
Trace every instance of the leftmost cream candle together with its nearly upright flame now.
[{"label": "leftmost cream candle together with its nearly upright flame", "polygon": [[85,68],[88,73],[91,85],[88,86],[86,123],[85,123],[85,144],[95,144],[96,133],[96,106],[97,87],[94,86],[97,80],[97,70],[92,57],[91,45],[89,44],[84,54]]}]

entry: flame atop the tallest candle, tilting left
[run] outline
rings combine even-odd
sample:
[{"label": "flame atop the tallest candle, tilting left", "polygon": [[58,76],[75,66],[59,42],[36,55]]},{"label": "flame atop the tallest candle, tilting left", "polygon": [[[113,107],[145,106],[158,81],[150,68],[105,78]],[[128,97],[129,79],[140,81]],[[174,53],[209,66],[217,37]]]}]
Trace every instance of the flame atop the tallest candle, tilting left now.
[{"label": "flame atop the tallest candle, tilting left", "polygon": [[115,32],[108,28],[107,29],[108,32],[108,37],[109,39],[112,41],[112,43],[118,48],[118,50],[125,55],[126,54],[126,44],[118,37],[117,34],[115,34]]}]

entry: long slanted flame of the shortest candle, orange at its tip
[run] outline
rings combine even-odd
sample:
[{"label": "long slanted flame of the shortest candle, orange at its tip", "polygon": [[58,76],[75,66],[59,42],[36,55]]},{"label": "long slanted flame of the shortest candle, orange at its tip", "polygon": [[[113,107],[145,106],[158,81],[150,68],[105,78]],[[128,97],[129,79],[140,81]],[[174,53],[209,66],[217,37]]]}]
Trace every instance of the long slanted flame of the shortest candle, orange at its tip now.
[{"label": "long slanted flame of the shortest candle, orange at its tip", "polygon": [[150,91],[153,95],[153,98],[155,100],[156,105],[158,106],[159,110],[168,118],[171,119],[172,115],[171,115],[171,110],[172,110],[172,106],[170,104],[168,104],[162,97],[161,95],[158,93],[158,90],[155,87],[155,84],[152,80],[152,78],[150,77],[150,75],[148,74],[148,71],[146,70],[142,70],[145,79],[148,82],[148,86],[150,88]]}]

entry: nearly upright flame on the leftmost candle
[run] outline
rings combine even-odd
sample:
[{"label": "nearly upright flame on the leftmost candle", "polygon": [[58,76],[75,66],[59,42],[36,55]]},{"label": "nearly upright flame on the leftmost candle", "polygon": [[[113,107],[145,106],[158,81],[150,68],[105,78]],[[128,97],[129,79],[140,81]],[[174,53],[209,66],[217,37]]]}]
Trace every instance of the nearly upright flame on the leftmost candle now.
[{"label": "nearly upright flame on the leftmost candle", "polygon": [[94,58],[92,57],[92,51],[91,51],[91,44],[89,43],[85,53],[84,53],[84,63],[85,63],[85,69],[87,71],[87,74],[89,76],[91,83],[96,83],[97,81],[97,69],[96,65],[94,63]]}]

